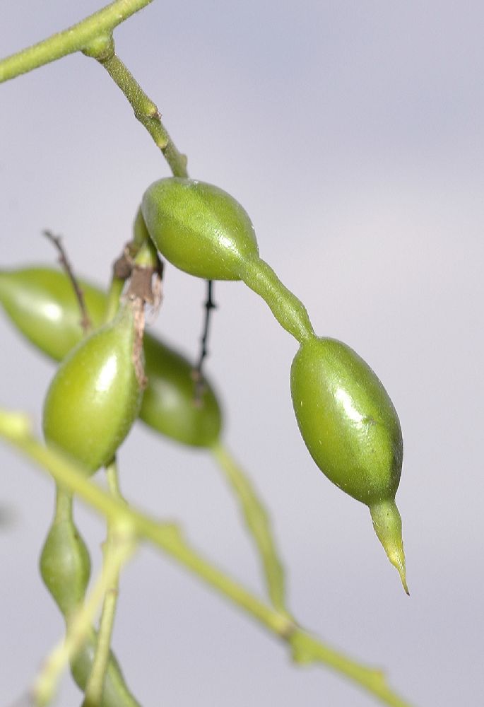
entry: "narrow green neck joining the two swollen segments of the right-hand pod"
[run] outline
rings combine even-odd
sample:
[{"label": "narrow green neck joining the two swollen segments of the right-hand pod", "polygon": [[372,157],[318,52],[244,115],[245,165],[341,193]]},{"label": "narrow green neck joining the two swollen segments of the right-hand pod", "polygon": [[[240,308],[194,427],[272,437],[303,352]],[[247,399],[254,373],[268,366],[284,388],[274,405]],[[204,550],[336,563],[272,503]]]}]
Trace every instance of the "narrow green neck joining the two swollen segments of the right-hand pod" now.
[{"label": "narrow green neck joining the two swollen segments of the right-hand pod", "polygon": [[244,283],[266,301],[281,327],[300,344],[314,336],[305,305],[282,284],[264,260],[247,259],[241,264],[239,274]]}]

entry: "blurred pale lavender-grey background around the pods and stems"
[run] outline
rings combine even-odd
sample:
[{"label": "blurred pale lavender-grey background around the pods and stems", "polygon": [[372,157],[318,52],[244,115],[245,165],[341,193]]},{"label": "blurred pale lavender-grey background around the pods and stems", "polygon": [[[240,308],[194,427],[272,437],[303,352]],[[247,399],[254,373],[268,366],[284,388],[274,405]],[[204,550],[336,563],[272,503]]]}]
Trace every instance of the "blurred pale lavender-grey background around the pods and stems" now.
[{"label": "blurred pale lavender-grey background around the pods and stems", "polygon": [[[0,1],[1,54],[99,0]],[[399,411],[397,502],[411,597],[365,506],[332,486],[290,401],[296,351],[240,283],[216,284],[207,373],[224,439],[266,501],[297,619],[387,670],[419,707],[483,703],[484,491],[482,4],[321,0],[154,2],[118,28],[117,52],[163,113],[190,174],[233,194],[261,256],[320,334],[346,341]],[[144,189],[170,174],[98,64],[66,57],[0,86],[1,267],[54,263],[107,283]],[[194,358],[203,281],[167,267],[153,329]],[[1,405],[40,427],[52,363],[0,316]],[[210,455],[136,426],[120,452],[139,508],[264,591],[235,502]],[[141,458],[140,458],[141,457]],[[0,704],[27,688],[63,623],[37,571],[53,484],[0,446]],[[100,564],[102,521],[78,504]],[[144,707],[370,707],[338,675],[291,665],[244,614],[150,547],[122,577],[114,648]],[[80,703],[66,676],[59,705]]]}]

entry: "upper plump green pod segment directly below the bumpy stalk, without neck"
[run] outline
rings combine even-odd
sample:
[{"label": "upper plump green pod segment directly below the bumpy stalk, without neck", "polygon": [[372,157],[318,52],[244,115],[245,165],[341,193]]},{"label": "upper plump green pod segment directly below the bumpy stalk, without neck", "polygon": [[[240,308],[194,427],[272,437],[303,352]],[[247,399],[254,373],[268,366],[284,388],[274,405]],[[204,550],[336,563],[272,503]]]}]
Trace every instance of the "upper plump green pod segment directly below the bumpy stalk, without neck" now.
[{"label": "upper plump green pod segment directly below the bumpy stalk, without neck", "polygon": [[239,280],[240,264],[258,258],[254,226],[242,206],[206,182],[168,177],[143,194],[141,211],[161,255],[208,280]]}]

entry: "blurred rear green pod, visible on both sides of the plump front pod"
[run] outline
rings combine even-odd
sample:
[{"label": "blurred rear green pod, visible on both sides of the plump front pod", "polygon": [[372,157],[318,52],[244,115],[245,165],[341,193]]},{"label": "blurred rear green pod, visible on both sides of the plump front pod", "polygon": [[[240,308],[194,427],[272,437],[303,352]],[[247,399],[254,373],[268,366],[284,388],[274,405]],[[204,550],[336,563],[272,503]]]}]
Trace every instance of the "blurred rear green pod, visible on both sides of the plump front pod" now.
[{"label": "blurred rear green pod, visible on both sides of the plump front pod", "polygon": [[[99,326],[107,297],[83,280],[79,284],[85,293],[93,325]],[[0,272],[0,302],[16,328],[37,349],[56,361],[69,354],[83,337],[72,285],[68,277],[56,269]],[[222,426],[220,404],[210,382],[205,381],[200,402],[195,404],[193,367],[189,361],[150,334],[145,334],[144,349],[148,385],[140,419],[177,442],[210,447],[219,438]]]}]

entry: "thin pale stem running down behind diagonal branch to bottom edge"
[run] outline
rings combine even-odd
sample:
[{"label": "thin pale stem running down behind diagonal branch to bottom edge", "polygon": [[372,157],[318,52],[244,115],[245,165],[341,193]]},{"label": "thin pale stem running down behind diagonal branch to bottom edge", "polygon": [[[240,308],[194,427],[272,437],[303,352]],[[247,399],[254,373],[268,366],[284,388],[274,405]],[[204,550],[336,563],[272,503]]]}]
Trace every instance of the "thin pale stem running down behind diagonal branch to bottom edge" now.
[{"label": "thin pale stem running down behind diagonal branch to bottom edge", "polygon": [[[114,459],[106,468],[107,485],[111,496],[119,501],[124,501],[119,490],[117,462]],[[105,545],[104,564],[109,566],[110,558],[116,552],[117,534],[116,526],[107,525],[107,539]],[[121,567],[119,567],[121,569]],[[102,700],[107,666],[110,661],[110,648],[114,617],[116,615],[117,597],[119,593],[119,572],[112,575],[111,582],[106,587],[104,602],[102,604],[101,620],[98,631],[98,641],[94,655],[93,669],[90,672],[88,684],[85,688],[85,699],[82,707],[98,707]]]}]

